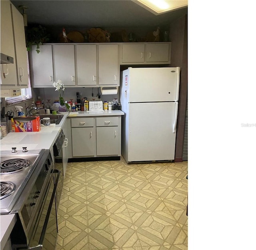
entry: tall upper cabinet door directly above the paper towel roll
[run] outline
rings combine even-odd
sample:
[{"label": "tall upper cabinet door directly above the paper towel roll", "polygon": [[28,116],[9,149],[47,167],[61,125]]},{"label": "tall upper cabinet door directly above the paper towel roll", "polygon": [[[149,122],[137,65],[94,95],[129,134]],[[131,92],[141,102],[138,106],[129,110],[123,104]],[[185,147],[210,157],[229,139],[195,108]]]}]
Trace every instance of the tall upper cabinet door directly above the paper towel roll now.
[{"label": "tall upper cabinet door directly above the paper towel roll", "polygon": [[118,44],[99,45],[99,85],[119,86]]}]

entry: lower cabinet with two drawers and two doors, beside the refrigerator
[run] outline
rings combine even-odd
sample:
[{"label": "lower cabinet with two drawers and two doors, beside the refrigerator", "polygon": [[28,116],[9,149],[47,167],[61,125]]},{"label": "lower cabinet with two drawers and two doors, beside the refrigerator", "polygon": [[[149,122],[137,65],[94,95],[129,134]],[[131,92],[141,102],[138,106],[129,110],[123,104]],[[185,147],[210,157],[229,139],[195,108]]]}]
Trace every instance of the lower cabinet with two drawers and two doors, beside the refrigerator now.
[{"label": "lower cabinet with two drawers and two doors, beside the refrigerator", "polygon": [[71,127],[72,157],[121,156],[121,116],[71,118]]}]

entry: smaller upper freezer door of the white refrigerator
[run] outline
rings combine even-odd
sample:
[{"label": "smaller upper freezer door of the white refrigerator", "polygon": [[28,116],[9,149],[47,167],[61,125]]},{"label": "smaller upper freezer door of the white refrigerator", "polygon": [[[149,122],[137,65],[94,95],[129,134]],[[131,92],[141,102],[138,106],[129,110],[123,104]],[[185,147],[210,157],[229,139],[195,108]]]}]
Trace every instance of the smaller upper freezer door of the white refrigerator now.
[{"label": "smaller upper freezer door of the white refrigerator", "polygon": [[[130,68],[128,102],[177,102],[180,68]],[[124,76],[125,77],[125,76]]]}]

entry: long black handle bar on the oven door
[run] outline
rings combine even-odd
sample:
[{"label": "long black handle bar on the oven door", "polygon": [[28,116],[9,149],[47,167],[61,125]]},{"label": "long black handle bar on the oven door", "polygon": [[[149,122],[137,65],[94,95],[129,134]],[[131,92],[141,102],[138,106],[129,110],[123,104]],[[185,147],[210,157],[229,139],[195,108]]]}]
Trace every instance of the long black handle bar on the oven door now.
[{"label": "long black handle bar on the oven door", "polygon": [[50,218],[51,208],[52,208],[52,204],[54,202],[54,196],[55,196],[55,193],[56,193],[56,189],[57,189],[57,185],[58,185],[59,177],[60,177],[60,171],[59,170],[53,169],[52,173],[58,173],[58,175],[57,175],[57,178],[56,178],[56,183],[54,185],[54,189],[52,191],[52,197],[51,197],[50,204],[49,204],[49,207],[48,207],[48,211],[47,211],[47,214],[46,214],[46,218],[45,218],[45,221],[44,221],[44,226],[43,226],[42,234],[40,236],[39,243],[38,243],[37,246],[31,247],[31,248],[19,248],[20,250],[42,250],[43,249],[44,235],[45,235],[45,232],[46,232],[46,227],[47,227],[47,224],[48,224],[48,220]]}]

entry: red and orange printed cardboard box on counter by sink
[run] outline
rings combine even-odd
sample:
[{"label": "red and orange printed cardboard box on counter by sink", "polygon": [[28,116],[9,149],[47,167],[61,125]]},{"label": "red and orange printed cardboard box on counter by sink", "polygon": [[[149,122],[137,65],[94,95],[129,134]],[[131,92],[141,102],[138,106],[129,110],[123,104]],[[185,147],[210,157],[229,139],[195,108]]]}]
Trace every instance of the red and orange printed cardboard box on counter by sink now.
[{"label": "red and orange printed cardboard box on counter by sink", "polygon": [[38,132],[41,130],[40,116],[14,117],[12,132]]}]

